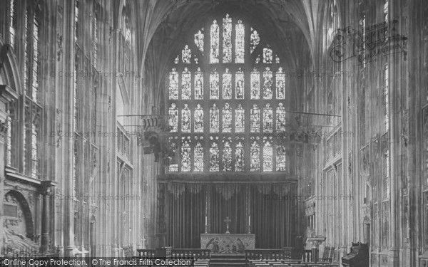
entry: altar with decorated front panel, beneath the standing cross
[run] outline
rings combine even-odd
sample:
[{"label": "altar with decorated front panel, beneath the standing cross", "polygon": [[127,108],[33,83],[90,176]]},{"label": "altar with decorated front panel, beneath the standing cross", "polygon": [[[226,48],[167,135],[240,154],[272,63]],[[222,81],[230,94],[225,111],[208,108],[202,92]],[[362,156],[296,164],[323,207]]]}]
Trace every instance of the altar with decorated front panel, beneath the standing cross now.
[{"label": "altar with decorated front panel, beneath the standing cross", "polygon": [[200,234],[200,248],[211,253],[245,253],[255,248],[254,234]]}]

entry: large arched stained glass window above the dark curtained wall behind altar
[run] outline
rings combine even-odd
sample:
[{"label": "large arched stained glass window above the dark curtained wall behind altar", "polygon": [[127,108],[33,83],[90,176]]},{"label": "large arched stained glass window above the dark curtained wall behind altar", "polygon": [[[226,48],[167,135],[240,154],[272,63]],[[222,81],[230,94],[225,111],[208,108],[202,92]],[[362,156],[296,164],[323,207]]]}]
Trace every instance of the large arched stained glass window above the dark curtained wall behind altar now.
[{"label": "large arched stained glass window above the dark curtained wall behind altar", "polygon": [[287,172],[283,135],[272,135],[287,130],[280,56],[242,19],[224,14],[209,24],[174,55],[167,76],[178,155],[168,172]]}]

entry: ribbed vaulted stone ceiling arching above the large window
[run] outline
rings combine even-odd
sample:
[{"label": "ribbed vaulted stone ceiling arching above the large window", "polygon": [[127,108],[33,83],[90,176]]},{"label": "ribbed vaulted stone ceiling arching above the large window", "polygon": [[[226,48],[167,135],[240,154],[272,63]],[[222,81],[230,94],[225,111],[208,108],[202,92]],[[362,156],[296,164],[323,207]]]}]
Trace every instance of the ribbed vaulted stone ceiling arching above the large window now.
[{"label": "ribbed vaulted stone ceiling arching above the large window", "polygon": [[[146,61],[150,43],[162,44],[162,55],[171,58],[183,43],[185,34],[203,25],[208,14],[226,11],[233,16],[245,16],[261,35],[270,41],[290,66],[307,64],[302,55],[307,51],[313,60],[322,31],[326,9],[335,0],[121,0],[132,4],[138,23],[135,25],[141,66]],[[120,13],[119,13],[120,14]],[[324,19],[325,21],[325,19]],[[158,58],[161,59],[161,58]],[[166,60],[166,59],[165,59]]]}]

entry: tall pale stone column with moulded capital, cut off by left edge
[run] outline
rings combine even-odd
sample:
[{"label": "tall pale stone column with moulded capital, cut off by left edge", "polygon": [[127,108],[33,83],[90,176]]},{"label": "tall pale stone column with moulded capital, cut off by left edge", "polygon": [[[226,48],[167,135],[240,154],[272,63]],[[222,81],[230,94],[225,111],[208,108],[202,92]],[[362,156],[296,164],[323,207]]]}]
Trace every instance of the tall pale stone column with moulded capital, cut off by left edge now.
[{"label": "tall pale stone column with moulded capital, cut off by left edge", "polygon": [[[0,66],[1,69],[1,66]],[[16,100],[18,94],[7,85],[0,85],[0,199],[4,197],[5,140],[7,135],[7,105]],[[0,203],[0,226],[3,227],[3,203]],[[3,231],[0,231],[0,251],[3,251]]]}]

